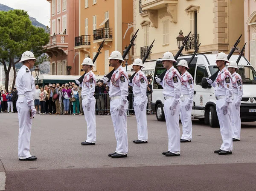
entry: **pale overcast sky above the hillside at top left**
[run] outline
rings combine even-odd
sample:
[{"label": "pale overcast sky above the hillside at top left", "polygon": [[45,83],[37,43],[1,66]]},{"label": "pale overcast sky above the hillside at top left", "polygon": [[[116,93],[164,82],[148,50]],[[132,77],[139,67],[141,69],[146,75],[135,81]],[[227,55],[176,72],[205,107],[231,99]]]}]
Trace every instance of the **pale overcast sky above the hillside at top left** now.
[{"label": "pale overcast sky above the hillside at top left", "polygon": [[13,9],[28,11],[30,17],[34,17],[38,22],[49,26],[51,4],[47,0],[0,0],[0,3]]}]

